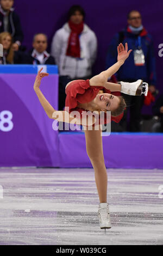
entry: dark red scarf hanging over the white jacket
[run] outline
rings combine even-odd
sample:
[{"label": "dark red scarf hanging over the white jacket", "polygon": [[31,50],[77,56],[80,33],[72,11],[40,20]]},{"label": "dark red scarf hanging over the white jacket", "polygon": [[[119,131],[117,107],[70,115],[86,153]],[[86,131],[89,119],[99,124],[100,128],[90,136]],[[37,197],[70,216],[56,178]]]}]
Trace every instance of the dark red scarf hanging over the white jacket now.
[{"label": "dark red scarf hanging over the white jacket", "polygon": [[71,34],[68,39],[66,55],[80,58],[79,34],[83,31],[84,23],[82,21],[80,24],[76,25],[72,23],[72,21],[68,21],[68,25],[71,29]]}]

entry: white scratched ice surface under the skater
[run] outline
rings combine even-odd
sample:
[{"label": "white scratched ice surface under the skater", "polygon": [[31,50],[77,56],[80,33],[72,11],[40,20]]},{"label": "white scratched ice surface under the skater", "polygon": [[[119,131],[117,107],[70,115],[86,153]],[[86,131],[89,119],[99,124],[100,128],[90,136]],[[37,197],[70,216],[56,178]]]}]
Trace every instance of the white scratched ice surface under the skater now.
[{"label": "white scratched ice surface under the skater", "polygon": [[0,168],[0,244],[163,245],[163,170],[107,172],[104,233],[93,169]]}]

